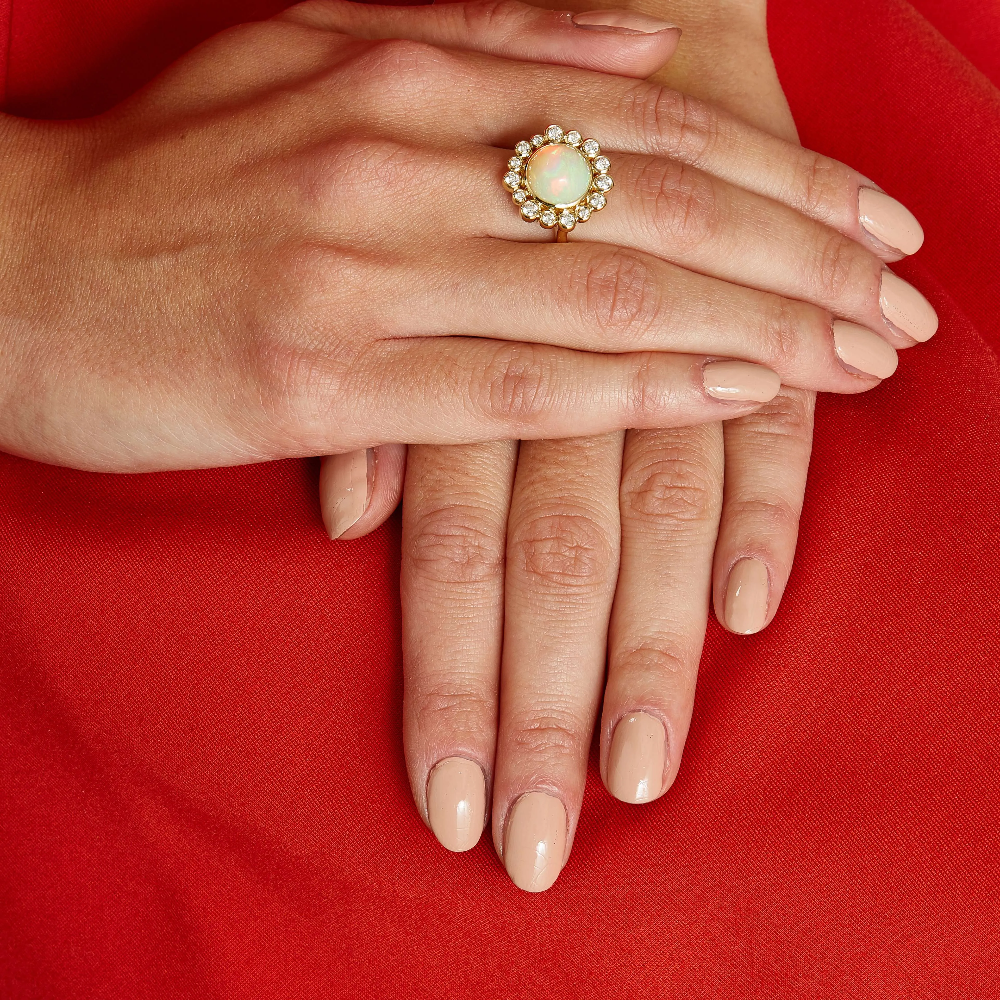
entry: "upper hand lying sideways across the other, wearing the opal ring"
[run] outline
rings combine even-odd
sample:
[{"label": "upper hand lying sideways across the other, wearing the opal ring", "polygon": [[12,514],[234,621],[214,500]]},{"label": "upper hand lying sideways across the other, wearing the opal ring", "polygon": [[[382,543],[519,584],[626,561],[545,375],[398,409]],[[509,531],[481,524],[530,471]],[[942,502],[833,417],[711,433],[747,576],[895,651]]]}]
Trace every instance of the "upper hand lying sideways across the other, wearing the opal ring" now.
[{"label": "upper hand lying sideways across the other, wearing the opal ring", "polygon": [[[860,232],[854,172],[653,85],[348,37],[343,8],[225,32],[92,121],[3,120],[0,446],[131,471],[593,434],[773,395],[754,367],[714,398],[720,354],[838,392],[894,364],[878,258],[751,190],[780,178]],[[514,53],[476,35],[511,18],[607,46],[485,9],[467,48]],[[498,191],[504,147],[549,120],[616,151],[612,209],[558,248]]]}]

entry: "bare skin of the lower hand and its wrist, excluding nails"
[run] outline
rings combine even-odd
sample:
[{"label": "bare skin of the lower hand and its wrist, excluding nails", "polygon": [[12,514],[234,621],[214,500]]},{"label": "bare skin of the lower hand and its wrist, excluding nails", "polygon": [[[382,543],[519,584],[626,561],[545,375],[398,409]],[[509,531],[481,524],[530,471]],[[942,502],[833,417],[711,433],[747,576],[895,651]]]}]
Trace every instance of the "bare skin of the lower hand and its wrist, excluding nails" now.
[{"label": "bare skin of the lower hand and its wrist, excluding nails", "polygon": [[[667,16],[685,25],[684,40],[657,79],[794,141],[763,5],[701,3],[683,13],[682,6]],[[642,9],[665,16],[656,5]],[[767,185],[740,180],[755,190]],[[846,213],[839,218],[847,235],[882,260],[899,258]],[[912,344],[899,331],[882,332],[896,346]],[[666,730],[662,785],[652,797],[670,787],[691,717],[713,561],[723,624],[728,574],[742,558],[768,567],[766,621],[777,610],[794,557],[813,401],[808,389],[786,386],[755,414],[725,425],[533,441],[520,449],[497,442],[410,450],[404,734],[425,816],[435,763],[473,760],[491,792],[501,857],[513,805],[543,791],[565,806],[568,858],[605,659],[605,783],[615,726],[641,710]],[[379,520],[380,502],[394,504],[391,476],[383,490],[345,537]]]}]

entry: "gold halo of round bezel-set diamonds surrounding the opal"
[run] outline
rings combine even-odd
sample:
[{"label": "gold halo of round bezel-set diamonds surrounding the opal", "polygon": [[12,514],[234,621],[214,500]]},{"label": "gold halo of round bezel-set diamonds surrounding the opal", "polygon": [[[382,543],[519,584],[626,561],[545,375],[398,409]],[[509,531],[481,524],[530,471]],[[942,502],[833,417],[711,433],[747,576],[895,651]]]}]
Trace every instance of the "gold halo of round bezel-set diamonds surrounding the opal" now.
[{"label": "gold halo of round bezel-set diamonds surrounding the opal", "polygon": [[[531,190],[531,185],[527,182],[531,158],[549,146],[569,146],[575,149],[590,167],[590,184],[584,194],[571,205],[555,205],[545,201]],[[614,186],[614,181],[608,174],[610,167],[611,162],[601,153],[596,139],[584,139],[576,129],[564,131],[559,125],[549,125],[543,133],[517,143],[514,155],[507,161],[503,186],[513,198],[525,222],[537,222],[543,229],[569,232],[607,204],[606,195]]]}]

